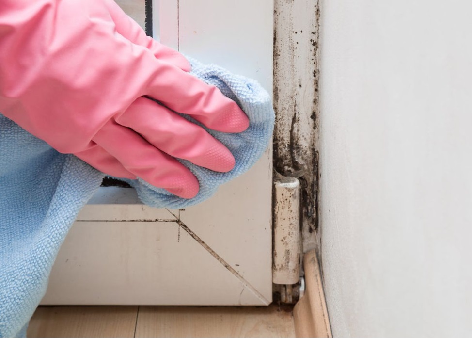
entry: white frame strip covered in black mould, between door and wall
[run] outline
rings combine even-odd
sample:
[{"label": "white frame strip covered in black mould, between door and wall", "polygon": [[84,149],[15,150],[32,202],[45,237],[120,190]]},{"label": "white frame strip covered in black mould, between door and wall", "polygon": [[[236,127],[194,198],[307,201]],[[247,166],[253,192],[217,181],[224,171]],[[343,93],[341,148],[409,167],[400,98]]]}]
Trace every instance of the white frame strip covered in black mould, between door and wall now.
[{"label": "white frame strip covered in black mould, between door and wall", "polygon": [[[318,228],[319,5],[300,14],[297,1],[274,3],[274,170],[301,185],[303,250]],[[303,33],[305,32],[305,33]],[[308,34],[306,32],[309,32]]]}]

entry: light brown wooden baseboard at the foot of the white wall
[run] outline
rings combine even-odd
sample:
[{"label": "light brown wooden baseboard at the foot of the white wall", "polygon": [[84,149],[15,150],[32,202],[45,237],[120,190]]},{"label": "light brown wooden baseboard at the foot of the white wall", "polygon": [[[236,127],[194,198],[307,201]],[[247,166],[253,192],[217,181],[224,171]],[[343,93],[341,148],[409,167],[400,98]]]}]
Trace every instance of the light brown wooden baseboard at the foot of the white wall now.
[{"label": "light brown wooden baseboard at the foot of the white wall", "polygon": [[297,337],[332,337],[330,319],[315,250],[303,258],[305,295],[293,310]]}]

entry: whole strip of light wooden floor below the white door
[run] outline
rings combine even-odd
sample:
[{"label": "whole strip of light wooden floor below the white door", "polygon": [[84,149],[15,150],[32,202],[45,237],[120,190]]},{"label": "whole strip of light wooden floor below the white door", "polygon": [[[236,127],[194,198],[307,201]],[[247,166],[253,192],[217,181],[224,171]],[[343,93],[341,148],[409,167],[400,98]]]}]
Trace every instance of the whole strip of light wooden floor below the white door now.
[{"label": "whole strip of light wooden floor below the white door", "polygon": [[279,306],[41,306],[28,337],[295,337]]}]

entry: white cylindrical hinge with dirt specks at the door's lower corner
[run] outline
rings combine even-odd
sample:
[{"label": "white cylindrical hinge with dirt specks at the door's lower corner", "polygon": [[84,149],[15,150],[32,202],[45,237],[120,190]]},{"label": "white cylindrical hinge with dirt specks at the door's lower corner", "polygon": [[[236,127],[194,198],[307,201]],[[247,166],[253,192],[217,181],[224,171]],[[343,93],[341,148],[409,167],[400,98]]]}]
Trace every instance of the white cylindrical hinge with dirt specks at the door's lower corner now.
[{"label": "white cylindrical hinge with dirt specks at the door's lower corner", "polygon": [[276,174],[274,182],[272,282],[276,299],[295,303],[302,288],[300,182]]}]

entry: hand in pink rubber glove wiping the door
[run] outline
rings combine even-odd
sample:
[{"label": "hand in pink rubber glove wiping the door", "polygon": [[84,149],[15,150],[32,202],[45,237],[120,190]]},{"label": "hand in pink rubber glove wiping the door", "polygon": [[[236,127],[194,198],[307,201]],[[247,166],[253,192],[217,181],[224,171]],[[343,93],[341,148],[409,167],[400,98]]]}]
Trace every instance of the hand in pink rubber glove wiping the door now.
[{"label": "hand in pink rubber glove wiping the door", "polygon": [[235,102],[189,70],[112,0],[0,1],[0,112],[106,174],[184,198],[197,194],[198,181],[173,157],[220,172],[235,160],[173,111],[223,132],[249,125]]}]

